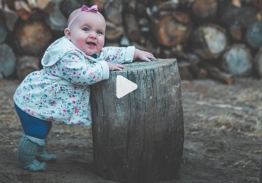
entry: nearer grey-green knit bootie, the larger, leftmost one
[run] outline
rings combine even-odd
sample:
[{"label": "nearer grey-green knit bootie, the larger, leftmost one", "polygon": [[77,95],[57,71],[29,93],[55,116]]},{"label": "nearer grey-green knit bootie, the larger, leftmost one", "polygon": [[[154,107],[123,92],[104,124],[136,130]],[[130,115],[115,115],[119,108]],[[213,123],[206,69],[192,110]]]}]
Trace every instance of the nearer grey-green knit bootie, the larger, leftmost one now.
[{"label": "nearer grey-green knit bootie, the larger, leftmost one", "polygon": [[23,135],[17,148],[18,165],[31,171],[45,171],[46,163],[36,160],[36,155],[44,145],[44,139]]}]

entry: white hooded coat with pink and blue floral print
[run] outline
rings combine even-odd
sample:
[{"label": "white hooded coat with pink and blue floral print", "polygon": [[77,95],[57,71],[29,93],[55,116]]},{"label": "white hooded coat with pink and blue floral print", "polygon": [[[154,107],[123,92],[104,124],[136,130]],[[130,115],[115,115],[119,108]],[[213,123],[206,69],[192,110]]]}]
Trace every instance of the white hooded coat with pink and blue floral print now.
[{"label": "white hooded coat with pink and blue floral print", "polygon": [[134,53],[134,46],[104,47],[93,58],[62,37],[47,48],[43,69],[18,86],[14,102],[27,114],[56,124],[90,125],[89,85],[109,78],[106,62],[130,63]]}]

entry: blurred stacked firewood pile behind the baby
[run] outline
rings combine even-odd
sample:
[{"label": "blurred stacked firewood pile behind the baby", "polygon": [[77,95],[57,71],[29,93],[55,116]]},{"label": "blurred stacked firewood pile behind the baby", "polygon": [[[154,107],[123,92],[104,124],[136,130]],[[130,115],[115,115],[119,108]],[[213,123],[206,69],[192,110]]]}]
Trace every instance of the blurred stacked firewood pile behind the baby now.
[{"label": "blurred stacked firewood pile behind the baby", "polygon": [[105,46],[177,58],[182,79],[262,77],[260,0],[0,0],[0,78],[41,69],[45,49],[83,4],[105,16]]}]

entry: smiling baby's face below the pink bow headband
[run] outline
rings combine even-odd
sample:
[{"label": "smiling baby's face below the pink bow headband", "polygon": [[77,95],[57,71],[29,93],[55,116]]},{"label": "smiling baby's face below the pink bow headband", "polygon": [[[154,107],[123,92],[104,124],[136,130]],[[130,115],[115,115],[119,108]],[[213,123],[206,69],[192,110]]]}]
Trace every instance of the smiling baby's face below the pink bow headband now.
[{"label": "smiling baby's face below the pink bow headband", "polygon": [[94,12],[85,12],[70,26],[70,40],[87,55],[92,55],[103,48],[105,32],[105,18]]}]

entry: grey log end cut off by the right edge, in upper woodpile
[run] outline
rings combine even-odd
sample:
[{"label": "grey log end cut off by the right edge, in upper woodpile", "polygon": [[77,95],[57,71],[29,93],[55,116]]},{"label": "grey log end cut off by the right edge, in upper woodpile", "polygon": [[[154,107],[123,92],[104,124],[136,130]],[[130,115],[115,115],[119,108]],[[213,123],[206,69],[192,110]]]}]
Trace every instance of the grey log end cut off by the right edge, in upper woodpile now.
[{"label": "grey log end cut off by the right edge, in upper woodpile", "polygon": [[252,23],[247,28],[247,42],[254,48],[262,47],[262,21]]}]

